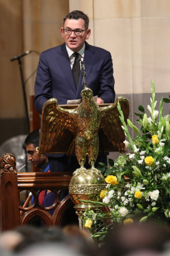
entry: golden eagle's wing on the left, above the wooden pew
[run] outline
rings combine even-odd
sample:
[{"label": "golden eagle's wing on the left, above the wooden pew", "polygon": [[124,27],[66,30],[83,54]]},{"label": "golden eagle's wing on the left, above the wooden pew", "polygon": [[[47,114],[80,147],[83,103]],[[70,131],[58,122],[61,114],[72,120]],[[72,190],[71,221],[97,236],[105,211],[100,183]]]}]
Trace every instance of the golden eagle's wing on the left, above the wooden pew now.
[{"label": "golden eagle's wing on the left, above the wooden pew", "polygon": [[[50,152],[64,130],[75,133],[74,118],[76,109],[64,109],[57,105],[56,98],[50,98],[43,107],[41,116],[39,154]],[[63,142],[64,143],[64,142]]]}]

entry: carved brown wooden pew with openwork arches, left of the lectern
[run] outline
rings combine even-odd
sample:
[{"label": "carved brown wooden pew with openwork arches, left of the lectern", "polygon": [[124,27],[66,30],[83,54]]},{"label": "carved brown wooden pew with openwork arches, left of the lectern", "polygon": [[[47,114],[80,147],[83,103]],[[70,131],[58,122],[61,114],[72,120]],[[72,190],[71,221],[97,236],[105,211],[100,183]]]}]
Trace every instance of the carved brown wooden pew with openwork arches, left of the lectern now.
[{"label": "carved brown wooden pew with openwork arches, left of the lectern", "polygon": [[[61,225],[62,216],[73,207],[70,196],[59,199],[59,194],[68,189],[72,173],[17,173],[16,161],[10,153],[0,158],[0,224],[1,232],[16,226],[28,225],[35,216],[40,217],[44,225]],[[20,204],[20,193],[28,191],[26,202]],[[55,202],[43,207],[38,202],[38,195],[43,190],[55,194]],[[34,196],[31,202],[30,193]],[[29,202],[29,205],[27,205]],[[51,215],[48,210],[53,209]]]}]

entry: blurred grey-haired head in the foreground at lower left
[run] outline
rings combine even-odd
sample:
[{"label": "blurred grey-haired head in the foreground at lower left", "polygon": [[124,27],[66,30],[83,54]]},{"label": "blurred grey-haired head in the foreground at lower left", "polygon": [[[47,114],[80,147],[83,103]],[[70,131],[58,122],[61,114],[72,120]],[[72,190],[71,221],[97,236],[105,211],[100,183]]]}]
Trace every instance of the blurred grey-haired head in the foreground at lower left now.
[{"label": "blurred grey-haired head in the foreground at lower left", "polygon": [[[45,226],[41,228],[33,226],[20,226],[10,232],[14,232],[16,236],[21,235],[22,239],[18,241],[15,246],[10,247],[8,252],[13,252],[14,255],[25,256],[43,256],[46,254],[51,256],[96,255],[96,248],[93,247],[91,240],[87,239],[87,237],[90,235],[86,237],[87,234],[84,235],[83,232],[79,231],[79,228],[75,228],[75,226],[74,228],[69,227],[68,229],[69,232],[65,232],[58,226]],[[49,250],[49,248],[51,249]]]}]

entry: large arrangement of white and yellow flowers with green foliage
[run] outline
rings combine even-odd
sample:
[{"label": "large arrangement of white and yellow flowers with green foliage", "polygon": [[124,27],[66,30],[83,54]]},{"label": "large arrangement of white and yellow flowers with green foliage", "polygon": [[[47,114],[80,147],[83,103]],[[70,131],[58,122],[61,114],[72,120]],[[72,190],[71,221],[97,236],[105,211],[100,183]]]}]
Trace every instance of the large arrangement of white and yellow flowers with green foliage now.
[{"label": "large arrangement of white and yellow flowers with green foliage", "polygon": [[[166,223],[170,220],[170,115],[162,116],[163,101],[170,100],[162,98],[159,110],[156,110],[153,82],[151,86],[151,106],[147,106],[150,117],[147,117],[141,105],[141,114],[136,114],[141,131],[130,120],[126,124],[118,104],[122,128],[128,139],[124,143],[130,153],[121,154],[115,162],[109,159],[108,168],[100,163],[100,170],[107,182],[107,189],[100,193],[100,199],[103,206],[109,206],[109,219],[114,223],[126,225],[133,223],[136,217],[139,222],[150,218]],[[128,126],[136,134],[134,139]],[[107,216],[108,213],[100,210],[87,209],[83,220],[88,229],[93,228],[99,220],[99,233],[95,234],[99,236],[106,231],[101,222]]]}]

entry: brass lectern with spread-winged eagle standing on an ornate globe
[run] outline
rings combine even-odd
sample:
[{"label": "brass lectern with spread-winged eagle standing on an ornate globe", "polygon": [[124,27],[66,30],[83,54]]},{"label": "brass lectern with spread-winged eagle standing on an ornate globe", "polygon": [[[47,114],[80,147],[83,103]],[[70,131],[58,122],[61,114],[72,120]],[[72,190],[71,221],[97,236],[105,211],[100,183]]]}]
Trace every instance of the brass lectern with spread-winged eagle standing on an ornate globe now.
[{"label": "brass lectern with spread-winged eagle standing on an ornate globe", "polygon": [[[102,174],[94,167],[99,150],[124,152],[124,131],[117,109],[120,102],[124,118],[129,117],[129,101],[118,97],[113,104],[97,105],[93,91],[85,87],[79,105],[58,106],[55,98],[43,107],[39,154],[67,153],[76,155],[80,168],[73,173],[69,193],[77,208],[86,208],[80,199],[91,199],[105,189]],[[86,158],[91,169],[84,167]],[[93,194],[93,196],[91,196]],[[88,205],[89,207],[90,205]]]}]

